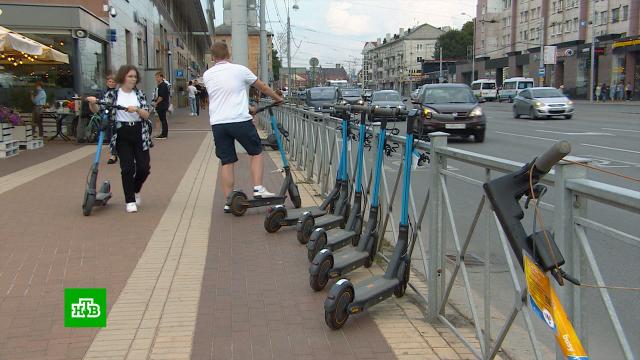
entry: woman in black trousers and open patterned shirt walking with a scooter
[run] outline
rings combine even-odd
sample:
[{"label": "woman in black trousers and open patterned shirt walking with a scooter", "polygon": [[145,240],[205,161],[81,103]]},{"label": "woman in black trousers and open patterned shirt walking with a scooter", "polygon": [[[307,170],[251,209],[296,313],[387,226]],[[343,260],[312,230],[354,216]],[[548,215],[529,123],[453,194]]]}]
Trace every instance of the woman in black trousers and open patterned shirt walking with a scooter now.
[{"label": "woman in black trousers and open patterned shirt walking with a scooter", "polygon": [[[111,112],[113,136],[110,146],[117,150],[120,157],[125,210],[128,213],[134,213],[141,205],[140,191],[151,169],[149,108],[144,93],[137,88],[141,79],[140,72],[135,66],[121,66],[115,80],[118,86],[107,91],[103,101],[127,108],[127,110]],[[94,113],[100,111],[95,97],[87,97],[87,101],[91,111]]]}]

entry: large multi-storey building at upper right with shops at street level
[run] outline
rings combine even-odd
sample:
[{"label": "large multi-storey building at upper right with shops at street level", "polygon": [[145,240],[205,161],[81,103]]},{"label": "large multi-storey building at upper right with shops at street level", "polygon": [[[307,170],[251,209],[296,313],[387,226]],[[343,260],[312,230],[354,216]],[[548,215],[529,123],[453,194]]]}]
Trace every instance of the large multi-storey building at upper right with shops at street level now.
[{"label": "large multi-storey building at upper right with shops at street level", "polygon": [[460,64],[461,82],[524,76],[588,98],[595,39],[594,84],[623,82],[640,96],[638,0],[479,0],[476,19],[476,73]]}]

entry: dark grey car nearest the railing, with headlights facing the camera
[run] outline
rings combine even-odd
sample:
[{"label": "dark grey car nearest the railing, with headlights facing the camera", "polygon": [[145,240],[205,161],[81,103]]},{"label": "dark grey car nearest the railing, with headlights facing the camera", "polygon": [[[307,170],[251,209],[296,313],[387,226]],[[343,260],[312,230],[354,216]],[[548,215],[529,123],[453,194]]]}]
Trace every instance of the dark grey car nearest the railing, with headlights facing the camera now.
[{"label": "dark grey car nearest the railing, with headlights facing the camera", "polygon": [[418,100],[429,111],[453,116],[451,121],[425,118],[423,120],[425,134],[444,131],[464,137],[473,135],[475,142],[484,141],[487,120],[469,86],[454,83],[427,84],[422,89]]}]

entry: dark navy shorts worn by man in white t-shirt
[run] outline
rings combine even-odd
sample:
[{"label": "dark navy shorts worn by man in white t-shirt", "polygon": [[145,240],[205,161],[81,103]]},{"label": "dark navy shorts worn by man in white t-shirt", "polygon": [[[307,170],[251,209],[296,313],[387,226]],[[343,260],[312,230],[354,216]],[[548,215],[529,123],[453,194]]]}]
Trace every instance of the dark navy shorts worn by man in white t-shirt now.
[{"label": "dark navy shorts worn by man in white t-shirt", "polygon": [[262,141],[252,120],[211,125],[211,130],[216,145],[216,156],[222,161],[222,165],[238,161],[235,140],[238,140],[249,155],[262,153]]}]

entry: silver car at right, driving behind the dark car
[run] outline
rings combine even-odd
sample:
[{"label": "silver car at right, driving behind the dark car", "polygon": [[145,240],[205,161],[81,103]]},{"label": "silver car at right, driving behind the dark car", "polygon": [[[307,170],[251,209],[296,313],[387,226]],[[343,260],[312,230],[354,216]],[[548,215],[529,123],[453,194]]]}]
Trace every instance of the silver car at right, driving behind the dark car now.
[{"label": "silver car at right, driving behind the dark car", "polygon": [[560,90],[554,87],[534,87],[522,90],[513,100],[513,117],[528,115],[531,119],[564,116],[571,119],[575,108]]}]

